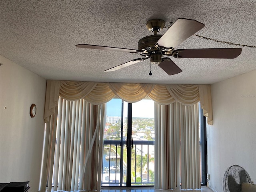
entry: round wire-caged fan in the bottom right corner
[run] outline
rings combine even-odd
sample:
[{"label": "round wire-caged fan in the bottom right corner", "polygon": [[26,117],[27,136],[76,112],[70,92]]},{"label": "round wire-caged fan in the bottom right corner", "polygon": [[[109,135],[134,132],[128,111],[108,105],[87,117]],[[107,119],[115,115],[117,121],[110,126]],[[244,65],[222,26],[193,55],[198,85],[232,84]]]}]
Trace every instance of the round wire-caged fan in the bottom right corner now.
[{"label": "round wire-caged fan in the bottom right corner", "polygon": [[224,192],[256,192],[256,185],[244,168],[233,165],[224,174],[223,190]]}]

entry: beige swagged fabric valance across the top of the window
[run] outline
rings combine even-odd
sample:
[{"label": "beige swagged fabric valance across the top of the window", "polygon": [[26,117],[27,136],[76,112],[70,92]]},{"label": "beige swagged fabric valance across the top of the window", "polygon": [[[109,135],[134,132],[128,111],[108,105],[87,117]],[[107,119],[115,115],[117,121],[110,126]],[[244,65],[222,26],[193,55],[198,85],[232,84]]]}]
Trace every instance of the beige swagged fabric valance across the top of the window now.
[{"label": "beige swagged fabric valance across the top of the window", "polygon": [[92,104],[100,105],[117,96],[122,100],[134,103],[149,97],[160,105],[175,101],[186,106],[200,101],[208,124],[212,125],[212,100],[210,85],[194,84],[140,84],[140,83],[102,83],[81,81],[47,80],[44,121],[48,122],[50,115],[58,106],[58,98],[69,101],[81,98]]}]

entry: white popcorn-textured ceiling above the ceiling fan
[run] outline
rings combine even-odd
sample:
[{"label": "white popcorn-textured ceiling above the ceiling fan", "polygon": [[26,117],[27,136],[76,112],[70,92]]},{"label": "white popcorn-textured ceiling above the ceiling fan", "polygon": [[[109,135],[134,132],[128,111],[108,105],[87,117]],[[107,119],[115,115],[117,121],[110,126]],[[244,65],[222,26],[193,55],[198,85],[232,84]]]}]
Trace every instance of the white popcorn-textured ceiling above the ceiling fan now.
[{"label": "white popcorn-textured ceiling above the ceiling fan", "polygon": [[[212,84],[256,69],[256,48],[242,47],[235,59],[171,58],[182,70],[169,76],[150,60],[114,71],[104,70],[140,55],[76,48],[94,44],[138,49],[152,35],[146,22],[166,25],[178,18],[205,24],[196,34],[256,45],[255,0],[82,0],[0,1],[0,54],[46,79],[96,82]],[[158,34],[164,34],[164,28]],[[176,49],[237,48],[191,36]]]}]

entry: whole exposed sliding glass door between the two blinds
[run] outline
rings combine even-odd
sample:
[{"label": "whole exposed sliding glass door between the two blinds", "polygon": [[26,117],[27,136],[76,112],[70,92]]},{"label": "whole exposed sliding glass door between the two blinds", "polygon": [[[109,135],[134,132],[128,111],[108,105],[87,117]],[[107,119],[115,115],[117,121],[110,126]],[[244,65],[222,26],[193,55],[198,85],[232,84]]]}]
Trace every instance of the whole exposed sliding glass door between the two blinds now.
[{"label": "whole exposed sliding glass door between the two blinds", "polygon": [[107,104],[102,186],[154,185],[154,102]]}]

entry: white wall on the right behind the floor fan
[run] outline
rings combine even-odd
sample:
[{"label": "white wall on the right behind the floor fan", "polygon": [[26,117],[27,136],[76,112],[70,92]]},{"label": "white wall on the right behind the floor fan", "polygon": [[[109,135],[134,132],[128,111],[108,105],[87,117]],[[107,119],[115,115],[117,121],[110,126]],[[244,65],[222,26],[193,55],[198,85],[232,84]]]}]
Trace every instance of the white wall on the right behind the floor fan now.
[{"label": "white wall on the right behind the floor fan", "polygon": [[211,85],[213,125],[207,126],[209,186],[223,191],[234,164],[256,182],[256,70]]}]

